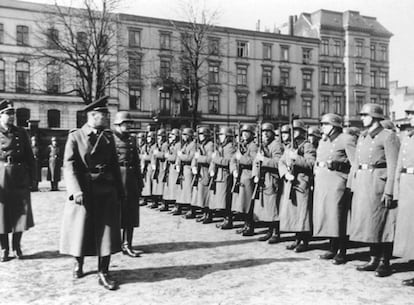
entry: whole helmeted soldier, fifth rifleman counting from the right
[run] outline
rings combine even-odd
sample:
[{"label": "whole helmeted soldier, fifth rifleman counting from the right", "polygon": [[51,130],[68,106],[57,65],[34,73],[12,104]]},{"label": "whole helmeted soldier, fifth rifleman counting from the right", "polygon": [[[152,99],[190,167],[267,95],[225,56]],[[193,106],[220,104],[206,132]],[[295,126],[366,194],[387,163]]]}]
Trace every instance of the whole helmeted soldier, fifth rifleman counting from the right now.
[{"label": "whole helmeted soldier, fifth rifleman counting from the right", "polygon": [[[215,130],[213,131],[215,132]],[[211,156],[215,150],[214,144],[211,141],[211,131],[207,127],[199,127],[197,130],[199,144],[194,153],[191,166],[193,175],[199,176],[198,183],[193,188],[193,198],[191,200],[191,210],[186,216],[187,218],[195,217],[195,210],[201,208],[203,216],[197,219],[203,224],[211,223],[213,221],[213,213],[209,208],[210,202],[210,175],[208,172]]]}]

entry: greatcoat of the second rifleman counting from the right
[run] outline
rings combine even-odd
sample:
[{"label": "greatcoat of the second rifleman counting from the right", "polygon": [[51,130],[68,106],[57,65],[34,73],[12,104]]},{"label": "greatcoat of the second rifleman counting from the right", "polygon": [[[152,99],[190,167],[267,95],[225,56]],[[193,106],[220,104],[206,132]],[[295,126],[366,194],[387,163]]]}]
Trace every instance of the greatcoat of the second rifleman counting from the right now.
[{"label": "greatcoat of the second rifleman counting from the right", "polygon": [[[256,221],[274,222],[279,221],[279,172],[278,163],[283,154],[283,145],[278,140],[273,140],[268,145],[263,145],[264,160],[261,171],[264,175],[264,186],[260,192],[260,198],[254,202],[253,217]],[[259,162],[253,165],[252,176],[260,177]]]}]

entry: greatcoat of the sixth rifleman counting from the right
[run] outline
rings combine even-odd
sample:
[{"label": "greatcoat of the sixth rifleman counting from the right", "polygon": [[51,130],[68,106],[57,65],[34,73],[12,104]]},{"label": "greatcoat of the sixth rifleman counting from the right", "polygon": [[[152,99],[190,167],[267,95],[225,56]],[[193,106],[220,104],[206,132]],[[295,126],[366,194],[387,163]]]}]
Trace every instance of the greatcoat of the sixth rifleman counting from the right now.
[{"label": "greatcoat of the sixth rifleman counting from the right", "polygon": [[[193,180],[193,173],[191,171],[191,162],[194,157],[195,153],[195,142],[186,142],[183,143],[182,146],[179,146],[179,150],[181,151],[181,155],[177,155],[176,160],[176,171],[177,176],[180,171],[183,172],[183,179],[179,182],[177,186],[177,203],[181,204],[190,204],[192,200],[193,188],[192,188],[192,180]],[[176,183],[177,180],[174,182]]]}]

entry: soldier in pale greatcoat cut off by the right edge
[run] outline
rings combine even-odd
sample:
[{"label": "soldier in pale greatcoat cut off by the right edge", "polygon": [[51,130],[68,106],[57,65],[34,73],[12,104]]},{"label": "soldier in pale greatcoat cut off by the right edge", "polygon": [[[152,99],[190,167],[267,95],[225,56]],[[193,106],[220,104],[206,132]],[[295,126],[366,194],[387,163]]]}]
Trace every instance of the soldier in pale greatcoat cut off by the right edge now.
[{"label": "soldier in pale greatcoat cut off by the right edge", "polygon": [[[402,138],[395,171],[394,200],[398,200],[395,226],[394,255],[414,259],[414,104],[405,110],[410,130]],[[404,280],[403,285],[414,286],[414,278]]]}]

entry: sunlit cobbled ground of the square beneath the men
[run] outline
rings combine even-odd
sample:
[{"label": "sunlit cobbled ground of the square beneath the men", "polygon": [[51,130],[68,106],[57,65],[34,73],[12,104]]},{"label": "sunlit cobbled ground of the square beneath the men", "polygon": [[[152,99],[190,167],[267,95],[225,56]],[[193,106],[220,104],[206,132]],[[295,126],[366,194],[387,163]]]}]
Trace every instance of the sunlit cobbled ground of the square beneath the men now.
[{"label": "sunlit cobbled ground of the square beneath the men", "polygon": [[86,259],[84,278],[72,279],[72,260],[57,251],[65,193],[45,186],[32,195],[36,226],[23,236],[26,258],[0,264],[0,304],[414,304],[414,289],[401,286],[414,265],[403,260],[393,260],[391,277],[376,278],[355,270],[366,247],[334,266],[318,259],[325,241],[297,254],[285,249],[288,242],[269,245],[145,207],[134,237],[145,253],[114,255],[121,285],[106,291],[96,258]]}]

